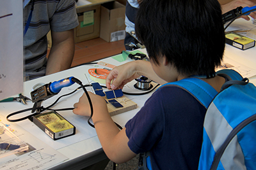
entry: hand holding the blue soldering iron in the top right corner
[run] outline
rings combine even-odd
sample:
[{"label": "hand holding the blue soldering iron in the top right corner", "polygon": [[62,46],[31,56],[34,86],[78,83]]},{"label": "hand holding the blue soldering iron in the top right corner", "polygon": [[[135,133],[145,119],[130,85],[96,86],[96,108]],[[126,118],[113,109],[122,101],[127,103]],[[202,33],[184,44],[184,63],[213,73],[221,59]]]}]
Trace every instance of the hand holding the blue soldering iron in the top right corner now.
[{"label": "hand holding the blue soldering iron in the top right corner", "polygon": [[[255,5],[256,5],[255,3],[253,3],[252,1],[248,1],[248,0],[234,0],[234,1],[231,1],[230,3],[221,5],[221,10],[222,10],[222,13],[227,13],[228,11],[234,10],[239,6],[242,6],[244,8],[246,6],[252,7]],[[252,18],[256,18],[256,12],[254,11],[254,12],[250,13],[250,16]],[[243,16],[241,16],[241,18],[250,20],[248,15],[243,15]]]}]

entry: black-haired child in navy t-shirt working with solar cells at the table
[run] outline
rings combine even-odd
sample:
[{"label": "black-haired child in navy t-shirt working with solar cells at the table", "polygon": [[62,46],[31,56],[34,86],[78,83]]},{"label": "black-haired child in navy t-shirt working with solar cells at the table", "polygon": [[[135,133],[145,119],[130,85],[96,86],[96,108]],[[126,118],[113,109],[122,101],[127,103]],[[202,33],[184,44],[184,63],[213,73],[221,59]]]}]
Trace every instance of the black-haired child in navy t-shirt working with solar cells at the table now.
[{"label": "black-haired child in navy t-shirt working with solar cells at the table", "polygon": [[[109,89],[122,89],[143,75],[161,84],[198,76],[220,91],[225,78],[214,69],[223,57],[225,34],[217,0],[142,0],[135,30],[150,62],[115,67],[106,80]],[[160,87],[121,131],[104,99],[92,93],[90,97],[97,135],[113,162],[149,151],[152,169],[197,169],[206,109],[188,92]],[[74,108],[75,114],[90,116],[85,95]]]}]

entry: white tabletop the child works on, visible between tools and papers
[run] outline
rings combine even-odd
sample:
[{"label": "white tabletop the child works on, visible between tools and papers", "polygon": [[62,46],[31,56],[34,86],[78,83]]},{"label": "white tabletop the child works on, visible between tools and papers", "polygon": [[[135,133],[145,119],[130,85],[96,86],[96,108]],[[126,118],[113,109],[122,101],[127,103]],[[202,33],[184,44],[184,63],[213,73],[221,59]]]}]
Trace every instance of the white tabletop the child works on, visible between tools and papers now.
[{"label": "white tabletop the child works on, visible between tools and papers", "polygon": [[[102,61],[107,62],[109,64],[113,64],[115,66],[118,66],[120,64],[124,64],[125,62],[131,61],[131,59],[127,58],[124,62],[118,62],[117,60],[109,57],[107,59],[103,59]],[[95,64],[88,64],[83,66],[77,66],[73,67],[71,69],[61,71],[59,73],[51,74],[48,76],[44,76],[42,78],[38,78],[36,80],[30,80],[24,82],[24,92],[22,93],[24,96],[30,96],[30,92],[33,91],[33,87],[37,84],[45,84],[53,81],[58,81],[63,78],[67,78],[70,76],[74,76],[81,80],[83,82],[83,85],[86,85],[88,83],[86,74],[88,76],[88,69],[94,67]],[[89,76],[88,76],[89,78]],[[89,80],[90,81],[90,80]],[[136,83],[136,81],[132,81],[124,88],[124,92],[142,92],[141,90],[134,89],[133,85]],[[79,85],[76,83],[74,85],[71,85],[70,87],[65,87],[61,89],[60,93],[56,96],[51,97],[50,99],[47,99],[42,102],[42,106],[46,107],[49,106],[51,103],[53,103],[58,97],[60,97],[63,94],[67,94],[69,92],[72,92],[75,90]],[[86,88],[88,91],[90,88]],[[63,97],[55,106],[52,107],[52,109],[60,109],[60,108],[72,108],[73,104],[78,102],[79,97],[81,97],[83,94],[83,90],[77,91],[75,94],[72,94],[68,97]],[[129,99],[132,99],[135,103],[138,104],[138,107],[136,110],[127,111],[125,113],[121,113],[119,115],[113,116],[113,120],[124,127],[125,123],[134,117],[134,115],[140,110],[140,108],[143,106],[147,98],[151,95],[143,95],[143,96],[127,96]],[[12,103],[0,103],[0,110],[1,115],[7,116],[10,113],[13,113],[15,111],[24,110],[26,108],[32,108],[33,103],[28,102],[28,105],[24,105],[17,102]],[[102,146],[100,145],[99,139],[97,138],[97,134],[95,132],[95,129],[90,127],[87,123],[86,117],[81,117],[79,115],[74,115],[72,113],[72,110],[68,111],[58,111],[60,115],[65,117],[70,123],[74,124],[76,126],[76,134],[74,136],[69,136],[67,138],[59,139],[59,140],[52,140],[45,134],[42,130],[40,130],[38,127],[36,127],[33,122],[30,120],[22,120],[20,122],[15,122],[15,124],[19,125],[20,127],[23,127],[26,131],[33,134],[35,138],[38,138],[42,141],[42,143],[46,143],[49,146],[52,146],[53,149],[57,148],[58,152],[62,153],[63,155],[68,157],[68,160],[65,161],[65,164],[56,165],[57,167],[52,167],[52,169],[61,169],[65,167],[67,169],[67,166],[70,164],[76,163],[76,162],[83,162],[84,166],[89,166],[90,164],[93,164],[95,162],[99,162],[100,160],[106,158],[106,155],[102,152]],[[25,113],[21,113],[17,116],[11,117],[11,119],[20,118],[26,115],[31,114],[30,111],[27,111]],[[82,120],[81,120],[82,119]],[[75,122],[75,123],[74,123]],[[10,122],[10,124],[13,124]],[[85,131],[84,131],[84,127]],[[90,138],[85,138],[84,136],[88,135],[90,133]],[[82,139],[79,139],[82,138]],[[93,160],[90,160],[90,157],[93,157]],[[89,160],[86,164],[86,160]],[[77,167],[79,169],[80,166]],[[72,169],[76,169],[76,166],[72,166]]]}]

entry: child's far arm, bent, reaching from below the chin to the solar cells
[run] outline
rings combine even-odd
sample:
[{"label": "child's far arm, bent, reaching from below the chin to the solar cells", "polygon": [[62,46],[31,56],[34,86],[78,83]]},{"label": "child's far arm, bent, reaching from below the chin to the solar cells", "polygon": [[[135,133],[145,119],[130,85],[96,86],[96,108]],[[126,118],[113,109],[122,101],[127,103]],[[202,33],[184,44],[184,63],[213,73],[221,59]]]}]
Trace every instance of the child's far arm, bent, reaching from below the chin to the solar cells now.
[{"label": "child's far arm, bent, reaching from below the chin to the solar cells", "polygon": [[150,62],[145,60],[136,60],[112,69],[106,78],[106,86],[108,89],[113,90],[122,89],[126,83],[138,78],[139,76],[146,76],[159,84],[166,83],[166,81],[157,76]]}]

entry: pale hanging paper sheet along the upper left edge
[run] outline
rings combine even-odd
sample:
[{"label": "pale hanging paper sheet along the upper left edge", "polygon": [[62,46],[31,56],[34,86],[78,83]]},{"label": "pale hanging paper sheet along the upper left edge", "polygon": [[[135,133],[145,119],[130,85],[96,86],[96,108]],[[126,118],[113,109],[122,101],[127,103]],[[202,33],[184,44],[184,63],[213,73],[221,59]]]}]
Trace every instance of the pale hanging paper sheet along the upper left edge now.
[{"label": "pale hanging paper sheet along the upper left edge", "polygon": [[23,90],[22,1],[0,1],[0,100]]}]

